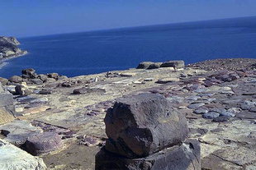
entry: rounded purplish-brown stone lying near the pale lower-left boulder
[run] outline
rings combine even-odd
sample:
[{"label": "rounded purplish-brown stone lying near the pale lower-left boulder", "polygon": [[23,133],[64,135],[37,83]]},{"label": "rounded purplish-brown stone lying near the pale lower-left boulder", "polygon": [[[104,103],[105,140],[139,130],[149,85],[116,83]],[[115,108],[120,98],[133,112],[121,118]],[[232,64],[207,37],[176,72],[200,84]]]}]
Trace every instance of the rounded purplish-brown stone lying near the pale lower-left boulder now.
[{"label": "rounded purplish-brown stone lying near the pale lower-left boulder", "polygon": [[49,153],[59,149],[61,146],[61,136],[50,131],[30,136],[26,140],[26,151],[32,155]]}]

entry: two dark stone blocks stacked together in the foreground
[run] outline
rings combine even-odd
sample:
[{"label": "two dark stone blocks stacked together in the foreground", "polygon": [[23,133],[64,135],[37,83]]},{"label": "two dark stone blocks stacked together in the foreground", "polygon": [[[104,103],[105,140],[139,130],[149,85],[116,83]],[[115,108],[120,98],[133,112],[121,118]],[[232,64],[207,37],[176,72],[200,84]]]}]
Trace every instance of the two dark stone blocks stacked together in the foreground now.
[{"label": "two dark stone blocks stacked together in the foreground", "polygon": [[159,94],[117,99],[104,119],[106,145],[96,170],[200,170],[200,143],[187,139],[187,121]]}]

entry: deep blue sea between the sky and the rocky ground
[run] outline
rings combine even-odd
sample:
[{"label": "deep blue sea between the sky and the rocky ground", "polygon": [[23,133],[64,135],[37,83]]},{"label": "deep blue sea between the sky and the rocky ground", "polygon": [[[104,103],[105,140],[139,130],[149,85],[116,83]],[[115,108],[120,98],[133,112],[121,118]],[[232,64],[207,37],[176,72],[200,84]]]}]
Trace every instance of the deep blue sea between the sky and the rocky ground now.
[{"label": "deep blue sea between the sky and the rocky ground", "polygon": [[24,68],[79,76],[136,67],[143,61],[184,60],[188,64],[225,57],[256,58],[256,16],[18,40],[29,53],[8,60],[0,76],[21,75]]}]

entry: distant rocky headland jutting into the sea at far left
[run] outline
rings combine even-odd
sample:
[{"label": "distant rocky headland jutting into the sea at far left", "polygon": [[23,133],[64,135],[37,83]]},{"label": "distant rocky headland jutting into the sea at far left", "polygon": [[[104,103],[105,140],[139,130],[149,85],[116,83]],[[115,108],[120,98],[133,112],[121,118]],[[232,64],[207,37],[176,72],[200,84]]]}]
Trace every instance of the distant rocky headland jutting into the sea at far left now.
[{"label": "distant rocky headland jutting into the sea at far left", "polygon": [[15,37],[0,36],[0,61],[8,57],[18,57],[26,54],[25,50],[17,47],[19,44]]}]

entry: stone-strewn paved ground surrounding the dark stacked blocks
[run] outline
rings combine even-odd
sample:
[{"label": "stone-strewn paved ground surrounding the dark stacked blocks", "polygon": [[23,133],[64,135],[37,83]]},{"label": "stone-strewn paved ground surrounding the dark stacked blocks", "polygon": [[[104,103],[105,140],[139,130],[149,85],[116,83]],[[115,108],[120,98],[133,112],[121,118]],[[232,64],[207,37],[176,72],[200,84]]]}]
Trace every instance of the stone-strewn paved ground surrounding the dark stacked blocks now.
[{"label": "stone-strewn paved ground surrounding the dark stacked blocks", "polygon": [[22,71],[0,79],[16,111],[16,120],[0,126],[0,138],[39,156],[48,169],[94,169],[107,139],[107,108],[122,96],[161,94],[187,117],[188,137],[201,143],[202,169],[256,169],[256,71],[237,71],[239,63],[252,68],[255,62],[235,59],[223,67],[229,61],[184,69],[147,62],[141,69],[72,78]]}]

